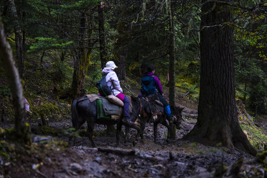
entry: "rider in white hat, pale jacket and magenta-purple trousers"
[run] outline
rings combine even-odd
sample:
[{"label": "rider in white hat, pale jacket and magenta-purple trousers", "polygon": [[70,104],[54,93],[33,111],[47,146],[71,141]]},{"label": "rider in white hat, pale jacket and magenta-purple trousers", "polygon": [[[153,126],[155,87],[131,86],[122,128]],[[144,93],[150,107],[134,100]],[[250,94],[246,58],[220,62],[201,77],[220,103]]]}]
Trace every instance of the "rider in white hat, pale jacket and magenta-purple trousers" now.
[{"label": "rider in white hat, pale jacket and magenta-purple trousers", "polygon": [[119,79],[114,69],[118,68],[113,61],[108,61],[106,67],[102,70],[102,75],[106,76],[107,86],[111,88],[111,94],[118,97],[124,103],[123,106],[123,120],[128,123],[133,123],[129,117],[130,101],[128,97],[122,94],[123,90],[120,87]]}]

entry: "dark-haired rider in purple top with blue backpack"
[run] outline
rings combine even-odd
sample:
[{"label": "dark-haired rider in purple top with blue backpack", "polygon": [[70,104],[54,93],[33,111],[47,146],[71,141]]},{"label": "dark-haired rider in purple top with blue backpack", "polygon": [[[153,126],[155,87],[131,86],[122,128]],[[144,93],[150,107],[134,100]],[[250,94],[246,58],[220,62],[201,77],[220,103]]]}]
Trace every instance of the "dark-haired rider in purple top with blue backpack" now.
[{"label": "dark-haired rider in purple top with blue backpack", "polygon": [[147,67],[147,72],[143,75],[142,78],[142,96],[148,96],[151,94],[156,94],[158,99],[163,104],[165,113],[167,116],[171,115],[169,103],[163,98],[163,91],[160,84],[160,80],[157,76],[154,75],[155,67],[149,65]]}]

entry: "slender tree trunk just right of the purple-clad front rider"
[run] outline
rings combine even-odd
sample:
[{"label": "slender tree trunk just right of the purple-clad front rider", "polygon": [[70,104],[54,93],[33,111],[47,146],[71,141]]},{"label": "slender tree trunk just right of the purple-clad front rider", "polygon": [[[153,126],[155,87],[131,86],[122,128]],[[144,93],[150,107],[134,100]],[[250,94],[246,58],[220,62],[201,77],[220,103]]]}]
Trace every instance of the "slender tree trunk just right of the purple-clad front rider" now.
[{"label": "slender tree trunk just right of the purple-clad front rider", "polygon": [[[175,41],[174,41],[174,20],[173,20],[173,7],[171,0],[169,0],[169,104],[175,106]],[[170,139],[175,139],[176,128],[172,124],[170,126]]]}]

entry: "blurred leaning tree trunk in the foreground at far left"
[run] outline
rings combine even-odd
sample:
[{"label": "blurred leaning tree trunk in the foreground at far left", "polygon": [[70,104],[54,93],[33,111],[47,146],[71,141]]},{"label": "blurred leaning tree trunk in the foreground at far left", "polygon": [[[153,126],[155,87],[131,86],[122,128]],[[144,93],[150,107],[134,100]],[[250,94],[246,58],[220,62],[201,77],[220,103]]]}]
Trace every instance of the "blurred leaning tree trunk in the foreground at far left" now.
[{"label": "blurred leaning tree trunk in the foreground at far left", "polygon": [[25,105],[23,98],[23,87],[13,59],[12,50],[8,44],[5,35],[2,21],[0,19],[0,59],[3,69],[9,83],[10,91],[13,97],[13,105],[15,109],[15,132],[16,137],[26,139],[27,131],[25,125]]}]

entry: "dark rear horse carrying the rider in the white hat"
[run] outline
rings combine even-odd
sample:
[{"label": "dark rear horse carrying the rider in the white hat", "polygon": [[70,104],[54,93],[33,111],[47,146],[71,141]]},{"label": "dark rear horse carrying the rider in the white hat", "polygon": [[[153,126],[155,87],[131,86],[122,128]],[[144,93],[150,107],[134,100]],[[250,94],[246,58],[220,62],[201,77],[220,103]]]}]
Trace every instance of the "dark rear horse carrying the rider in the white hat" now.
[{"label": "dark rear horse carrying the rider in the white hat", "polygon": [[[132,114],[130,119],[136,118],[140,113],[146,113],[148,117],[152,120],[157,119],[156,110],[149,105],[149,103],[144,99],[138,99],[131,97],[132,104]],[[142,106],[142,107],[141,107]],[[152,108],[152,110],[150,109]],[[96,143],[93,139],[93,130],[95,124],[105,124],[105,125],[114,125],[116,124],[116,146],[119,145],[119,134],[121,131],[122,125],[136,129],[137,131],[140,128],[134,124],[128,124],[122,121],[122,117],[118,120],[107,120],[107,119],[97,119],[97,101],[90,102],[86,96],[74,99],[71,106],[71,121],[72,125],[76,130],[79,130],[80,127],[87,121],[87,135],[91,141],[93,147],[96,147]]]}]

